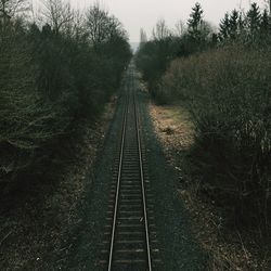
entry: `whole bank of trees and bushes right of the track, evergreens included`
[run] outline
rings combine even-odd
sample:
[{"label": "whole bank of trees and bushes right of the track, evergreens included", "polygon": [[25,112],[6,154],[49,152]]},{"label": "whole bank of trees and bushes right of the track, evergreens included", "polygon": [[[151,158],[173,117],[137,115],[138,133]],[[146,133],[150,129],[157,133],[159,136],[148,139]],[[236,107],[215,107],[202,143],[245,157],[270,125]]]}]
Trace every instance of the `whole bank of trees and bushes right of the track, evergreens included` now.
[{"label": "whole bank of trees and bushes right of the track, evergreens included", "polygon": [[190,111],[195,138],[186,160],[201,191],[228,210],[235,224],[255,227],[267,236],[271,17],[253,3],[246,13],[227,13],[215,31],[203,15],[196,4],[188,26],[178,25],[179,36],[162,22],[152,40],[142,33],[137,64],[157,103],[181,102]]}]

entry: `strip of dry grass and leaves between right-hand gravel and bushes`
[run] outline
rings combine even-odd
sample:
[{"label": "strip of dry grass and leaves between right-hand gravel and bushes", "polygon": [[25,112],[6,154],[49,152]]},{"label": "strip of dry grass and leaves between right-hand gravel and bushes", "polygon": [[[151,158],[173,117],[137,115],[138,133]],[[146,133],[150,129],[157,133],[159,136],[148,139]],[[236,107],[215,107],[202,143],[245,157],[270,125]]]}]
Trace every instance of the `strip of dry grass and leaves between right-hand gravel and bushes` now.
[{"label": "strip of dry grass and leaves between right-hand gravel and bushes", "polygon": [[150,111],[165,155],[179,176],[180,197],[191,214],[194,232],[209,256],[209,270],[269,270],[268,259],[258,257],[253,238],[227,229],[216,202],[206,201],[201,193],[201,183],[185,175],[182,154],[193,144],[195,133],[188,111],[181,105],[154,104],[150,105]]}]

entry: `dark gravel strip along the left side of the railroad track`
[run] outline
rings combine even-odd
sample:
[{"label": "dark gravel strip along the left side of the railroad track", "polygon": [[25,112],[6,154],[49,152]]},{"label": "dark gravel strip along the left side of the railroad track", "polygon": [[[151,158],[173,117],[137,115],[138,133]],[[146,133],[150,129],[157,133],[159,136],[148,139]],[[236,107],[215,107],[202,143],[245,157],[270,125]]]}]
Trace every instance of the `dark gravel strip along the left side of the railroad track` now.
[{"label": "dark gravel strip along the left side of the railroad track", "polygon": [[80,208],[82,221],[72,229],[74,236],[73,249],[69,250],[67,270],[100,270],[100,244],[103,240],[103,230],[108,202],[112,170],[118,149],[122,121],[122,98],[119,93],[118,104],[114,119],[108,128],[105,144],[101,150],[94,166],[94,172],[90,172],[85,198]]}]

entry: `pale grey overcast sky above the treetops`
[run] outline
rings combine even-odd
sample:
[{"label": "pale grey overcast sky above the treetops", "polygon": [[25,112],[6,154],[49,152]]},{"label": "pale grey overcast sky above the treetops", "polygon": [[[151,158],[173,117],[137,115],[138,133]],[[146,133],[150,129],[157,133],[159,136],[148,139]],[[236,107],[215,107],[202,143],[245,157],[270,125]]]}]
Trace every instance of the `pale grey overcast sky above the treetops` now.
[{"label": "pale grey overcast sky above the treetops", "polygon": [[[75,8],[83,10],[96,0],[70,0]],[[119,18],[129,33],[130,42],[138,42],[140,28],[150,36],[157,20],[165,18],[173,27],[180,18],[186,22],[196,0],[102,0],[100,1],[112,14]],[[227,11],[245,9],[253,0],[199,0],[205,20],[218,25]],[[263,7],[263,0],[255,0]]]}]

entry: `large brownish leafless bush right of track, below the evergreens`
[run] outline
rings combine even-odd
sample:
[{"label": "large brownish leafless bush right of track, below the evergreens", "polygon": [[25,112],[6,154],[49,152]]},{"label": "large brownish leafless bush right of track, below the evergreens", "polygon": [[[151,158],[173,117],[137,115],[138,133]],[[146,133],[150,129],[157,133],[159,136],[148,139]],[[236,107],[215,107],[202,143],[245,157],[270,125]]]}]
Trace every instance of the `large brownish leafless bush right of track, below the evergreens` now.
[{"label": "large brownish leafless bush right of track, below the evergreens", "polygon": [[203,186],[236,222],[271,214],[271,51],[229,46],[179,59],[162,82],[185,100],[196,127],[191,151]]}]

